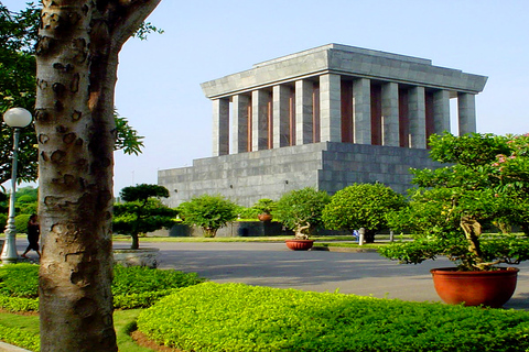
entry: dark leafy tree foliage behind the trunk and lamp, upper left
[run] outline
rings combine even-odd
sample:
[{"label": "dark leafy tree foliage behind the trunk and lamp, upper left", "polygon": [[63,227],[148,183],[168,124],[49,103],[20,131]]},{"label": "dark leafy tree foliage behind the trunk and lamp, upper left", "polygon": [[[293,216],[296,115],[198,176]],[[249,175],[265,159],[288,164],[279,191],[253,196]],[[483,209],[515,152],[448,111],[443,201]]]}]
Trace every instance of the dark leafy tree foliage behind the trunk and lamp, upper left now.
[{"label": "dark leafy tree foliage behind the trunk and lamp, upper left", "polygon": [[[10,12],[0,3],[0,116],[12,108],[29,110],[35,117],[36,62],[34,46],[37,38],[41,9],[29,4],[20,13]],[[154,30],[150,23],[142,24],[144,35]],[[127,119],[115,112],[115,150],[126,154],[140,154],[143,136],[130,127]],[[0,185],[11,177],[13,129],[1,123],[0,129]],[[37,178],[37,141],[34,122],[21,130],[19,141],[19,182]]]}]

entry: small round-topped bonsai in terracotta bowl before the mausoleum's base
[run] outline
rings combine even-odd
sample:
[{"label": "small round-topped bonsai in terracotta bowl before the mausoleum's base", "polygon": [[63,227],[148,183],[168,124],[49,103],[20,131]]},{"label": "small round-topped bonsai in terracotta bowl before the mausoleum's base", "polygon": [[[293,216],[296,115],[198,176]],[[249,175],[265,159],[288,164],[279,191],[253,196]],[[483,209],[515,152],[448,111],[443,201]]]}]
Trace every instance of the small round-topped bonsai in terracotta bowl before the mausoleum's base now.
[{"label": "small round-topped bonsai in terracotta bowl before the mausoleum's base", "polygon": [[291,190],[279,199],[274,213],[287,228],[294,231],[294,239],[285,241],[289,249],[307,251],[312,248],[314,241],[309,237],[323,223],[322,211],[330,200],[326,191],[313,187]]}]

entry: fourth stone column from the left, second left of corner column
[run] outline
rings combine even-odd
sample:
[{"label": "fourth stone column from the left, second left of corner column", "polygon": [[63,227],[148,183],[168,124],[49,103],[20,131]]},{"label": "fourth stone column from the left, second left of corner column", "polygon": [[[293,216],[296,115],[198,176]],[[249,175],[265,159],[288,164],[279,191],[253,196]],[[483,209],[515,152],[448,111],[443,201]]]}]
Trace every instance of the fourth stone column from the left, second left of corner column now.
[{"label": "fourth stone column from the left, second left of corner column", "polygon": [[290,145],[290,88],[273,86],[273,147]]}]

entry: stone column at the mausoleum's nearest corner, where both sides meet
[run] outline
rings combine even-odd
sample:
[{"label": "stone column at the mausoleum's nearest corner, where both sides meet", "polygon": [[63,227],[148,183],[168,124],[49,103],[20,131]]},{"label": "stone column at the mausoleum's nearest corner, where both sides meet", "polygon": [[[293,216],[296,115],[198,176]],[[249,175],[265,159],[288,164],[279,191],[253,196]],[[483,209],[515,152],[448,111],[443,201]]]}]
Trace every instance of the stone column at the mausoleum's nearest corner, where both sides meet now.
[{"label": "stone column at the mausoleum's nearest corner, where both sides meet", "polygon": [[339,75],[320,76],[320,140],[342,142],[342,95]]}]

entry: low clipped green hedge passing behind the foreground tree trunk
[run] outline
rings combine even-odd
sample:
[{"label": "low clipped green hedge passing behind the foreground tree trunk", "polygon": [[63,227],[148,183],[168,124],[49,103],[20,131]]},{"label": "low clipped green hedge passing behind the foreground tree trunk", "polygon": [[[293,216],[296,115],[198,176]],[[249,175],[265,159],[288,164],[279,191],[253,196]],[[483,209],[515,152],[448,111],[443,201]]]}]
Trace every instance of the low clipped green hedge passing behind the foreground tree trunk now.
[{"label": "low clipped green hedge passing behind the foreground tree trunk", "polygon": [[[144,266],[114,270],[112,294],[117,309],[144,308],[181,287],[204,282],[196,273],[153,270]],[[0,308],[9,311],[39,310],[39,265],[0,267]]]}]

